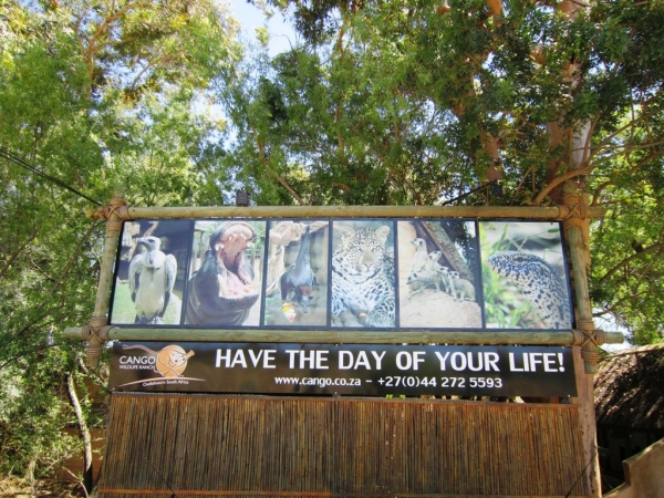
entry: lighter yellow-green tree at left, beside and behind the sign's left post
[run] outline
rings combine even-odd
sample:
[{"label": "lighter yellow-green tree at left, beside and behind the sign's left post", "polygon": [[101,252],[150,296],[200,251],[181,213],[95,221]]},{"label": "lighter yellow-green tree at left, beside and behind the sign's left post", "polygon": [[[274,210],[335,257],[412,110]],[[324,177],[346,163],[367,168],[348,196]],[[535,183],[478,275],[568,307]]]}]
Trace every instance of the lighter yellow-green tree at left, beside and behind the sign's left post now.
[{"label": "lighter yellow-green tree at left, beside and behind the sign's left post", "polygon": [[105,380],[61,335],[93,310],[104,234],[82,216],[90,200],[124,181],[134,203],[221,197],[208,169],[224,129],[193,110],[228,71],[235,27],[211,0],[154,7],[0,7],[0,474],[53,473],[85,445],[90,488],[85,433],[100,421],[83,381]]}]

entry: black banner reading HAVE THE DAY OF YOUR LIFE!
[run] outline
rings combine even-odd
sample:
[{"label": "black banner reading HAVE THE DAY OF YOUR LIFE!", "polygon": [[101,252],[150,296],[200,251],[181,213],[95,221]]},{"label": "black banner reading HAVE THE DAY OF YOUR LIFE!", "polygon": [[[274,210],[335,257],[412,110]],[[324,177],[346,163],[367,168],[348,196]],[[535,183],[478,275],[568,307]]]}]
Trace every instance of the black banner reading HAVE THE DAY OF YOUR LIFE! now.
[{"label": "black banner reading HAVE THE DAY OF YOUR LIFE!", "polygon": [[570,347],[430,344],[116,342],[111,387],[357,396],[577,395]]}]

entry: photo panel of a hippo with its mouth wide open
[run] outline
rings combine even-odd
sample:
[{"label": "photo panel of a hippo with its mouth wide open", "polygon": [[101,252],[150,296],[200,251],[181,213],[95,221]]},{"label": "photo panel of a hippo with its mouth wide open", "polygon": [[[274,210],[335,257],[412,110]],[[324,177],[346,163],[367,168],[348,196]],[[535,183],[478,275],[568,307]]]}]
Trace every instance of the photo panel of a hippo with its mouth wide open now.
[{"label": "photo panel of a hippo with its mouth wide open", "polygon": [[185,300],[186,324],[260,324],[264,238],[266,221],[196,221]]}]

